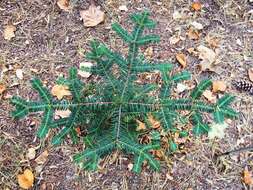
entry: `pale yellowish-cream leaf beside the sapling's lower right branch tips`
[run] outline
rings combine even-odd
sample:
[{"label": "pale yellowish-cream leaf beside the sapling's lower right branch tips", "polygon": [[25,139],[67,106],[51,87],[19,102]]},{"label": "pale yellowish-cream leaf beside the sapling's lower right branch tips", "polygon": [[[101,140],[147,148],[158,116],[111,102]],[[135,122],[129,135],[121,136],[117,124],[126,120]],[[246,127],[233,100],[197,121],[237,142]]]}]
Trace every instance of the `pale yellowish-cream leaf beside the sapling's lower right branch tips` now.
[{"label": "pale yellowish-cream leaf beside the sapling's lower right branch tips", "polygon": [[214,139],[215,137],[222,139],[225,136],[225,129],[228,127],[226,123],[213,123],[208,131],[208,138]]}]

